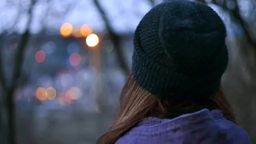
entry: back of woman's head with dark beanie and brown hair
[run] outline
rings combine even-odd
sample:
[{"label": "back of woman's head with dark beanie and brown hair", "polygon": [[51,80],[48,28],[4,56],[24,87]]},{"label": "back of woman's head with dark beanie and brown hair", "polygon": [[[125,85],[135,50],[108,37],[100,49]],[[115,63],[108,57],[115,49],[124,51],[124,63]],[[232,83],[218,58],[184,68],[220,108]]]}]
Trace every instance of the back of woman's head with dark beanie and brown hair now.
[{"label": "back of woman's head with dark beanie and brown hair", "polygon": [[115,143],[143,118],[167,117],[175,109],[221,109],[234,121],[220,90],[225,37],[223,21],[207,5],[171,0],[151,9],[135,30],[132,75],[118,115],[98,143]]}]

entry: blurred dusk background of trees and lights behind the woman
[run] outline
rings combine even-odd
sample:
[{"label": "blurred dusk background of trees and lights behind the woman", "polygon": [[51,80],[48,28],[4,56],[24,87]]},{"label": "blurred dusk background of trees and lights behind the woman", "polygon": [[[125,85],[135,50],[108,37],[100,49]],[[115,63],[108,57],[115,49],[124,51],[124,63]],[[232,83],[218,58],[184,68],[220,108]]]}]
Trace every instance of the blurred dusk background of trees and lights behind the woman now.
[{"label": "blurred dusk background of trees and lights behind the woman", "polygon": [[[225,21],[223,90],[256,143],[256,1],[197,0]],[[0,143],[95,143],[115,116],[133,32],[161,0],[0,0]]]}]

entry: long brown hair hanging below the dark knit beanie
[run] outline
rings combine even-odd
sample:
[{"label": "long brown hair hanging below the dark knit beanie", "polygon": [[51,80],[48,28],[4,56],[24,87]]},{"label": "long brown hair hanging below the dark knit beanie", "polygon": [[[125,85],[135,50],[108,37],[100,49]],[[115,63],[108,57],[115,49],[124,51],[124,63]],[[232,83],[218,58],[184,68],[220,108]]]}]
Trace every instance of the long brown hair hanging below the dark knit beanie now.
[{"label": "long brown hair hanging below the dark knit beanie", "polygon": [[[211,103],[211,104],[210,104]],[[235,116],[228,100],[221,89],[212,95],[209,105],[220,109],[223,115],[235,122]],[[126,132],[148,116],[164,116],[172,105],[170,101],[161,100],[138,85],[130,75],[121,92],[119,109],[114,123],[106,134],[103,134],[98,144],[114,144]]]}]

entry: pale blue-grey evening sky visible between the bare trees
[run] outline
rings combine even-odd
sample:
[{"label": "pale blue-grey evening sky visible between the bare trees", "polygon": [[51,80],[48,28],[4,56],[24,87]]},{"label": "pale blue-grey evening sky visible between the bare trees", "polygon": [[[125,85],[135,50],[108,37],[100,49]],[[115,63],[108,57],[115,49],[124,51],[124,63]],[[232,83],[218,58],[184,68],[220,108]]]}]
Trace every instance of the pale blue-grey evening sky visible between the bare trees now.
[{"label": "pale blue-grey evening sky visible between the bare trees", "polygon": [[[158,0],[156,3],[162,1]],[[21,33],[27,23],[26,7],[29,2],[30,0],[0,0],[0,31],[11,29]],[[248,0],[243,0],[243,5],[249,4],[246,2]],[[100,0],[100,3],[108,14],[111,25],[119,33],[133,32],[139,20],[151,9],[148,0]],[[248,6],[244,7],[248,9]],[[216,6],[213,8],[220,12]],[[46,17],[47,9],[49,9],[50,14]],[[67,9],[69,10],[64,14]],[[246,14],[245,10],[243,14],[248,15],[248,11]],[[223,14],[221,13],[221,15]],[[15,21],[17,21],[17,25],[13,26]],[[74,26],[87,24],[94,31],[105,29],[93,0],[38,0],[34,10],[33,23],[30,27],[31,33],[38,33],[42,26],[57,31],[65,22]]]}]

